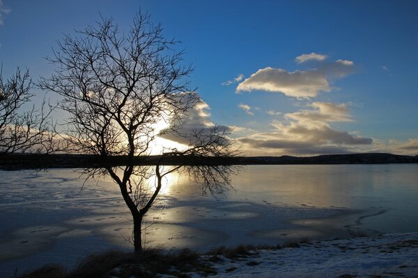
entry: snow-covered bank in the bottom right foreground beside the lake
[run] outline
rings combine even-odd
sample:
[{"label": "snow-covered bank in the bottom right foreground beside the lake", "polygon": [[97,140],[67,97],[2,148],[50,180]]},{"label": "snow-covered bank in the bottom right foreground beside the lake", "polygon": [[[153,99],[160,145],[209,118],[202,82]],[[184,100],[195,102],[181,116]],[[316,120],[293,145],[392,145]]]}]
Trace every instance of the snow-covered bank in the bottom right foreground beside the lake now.
[{"label": "snow-covered bank in the bottom right foreground beside the lake", "polygon": [[[220,258],[212,263],[217,275],[211,277],[418,277],[418,233],[316,241]],[[210,256],[204,259],[210,263]]]}]

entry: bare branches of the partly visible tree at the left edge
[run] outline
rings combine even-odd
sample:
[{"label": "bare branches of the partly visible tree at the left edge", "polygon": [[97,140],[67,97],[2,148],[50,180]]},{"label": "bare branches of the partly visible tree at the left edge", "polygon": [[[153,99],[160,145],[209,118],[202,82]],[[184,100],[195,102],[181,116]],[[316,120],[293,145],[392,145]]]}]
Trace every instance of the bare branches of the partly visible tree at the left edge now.
[{"label": "bare branches of the partly visible tree at the left edge", "polygon": [[33,82],[29,71],[16,73],[3,80],[0,70],[0,154],[49,153],[54,150],[54,132],[51,106],[47,109],[45,100],[40,108],[33,105],[29,111],[22,111],[31,101],[30,90]]}]

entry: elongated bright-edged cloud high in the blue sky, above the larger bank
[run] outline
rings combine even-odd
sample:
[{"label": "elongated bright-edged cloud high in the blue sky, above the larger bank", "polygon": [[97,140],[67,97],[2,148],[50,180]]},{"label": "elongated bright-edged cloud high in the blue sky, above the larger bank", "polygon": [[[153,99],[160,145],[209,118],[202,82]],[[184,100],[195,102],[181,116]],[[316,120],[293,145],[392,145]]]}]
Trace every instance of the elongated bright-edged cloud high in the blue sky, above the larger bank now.
[{"label": "elongated bright-edged cloud high in the blue sky, above the larger bank", "polygon": [[330,83],[334,79],[340,79],[353,70],[354,63],[350,60],[336,60],[332,63],[321,61],[317,68],[294,72],[265,67],[239,83],[236,92],[263,90],[281,92],[288,97],[298,99],[309,99],[316,97],[320,92],[330,92],[332,90]]}]

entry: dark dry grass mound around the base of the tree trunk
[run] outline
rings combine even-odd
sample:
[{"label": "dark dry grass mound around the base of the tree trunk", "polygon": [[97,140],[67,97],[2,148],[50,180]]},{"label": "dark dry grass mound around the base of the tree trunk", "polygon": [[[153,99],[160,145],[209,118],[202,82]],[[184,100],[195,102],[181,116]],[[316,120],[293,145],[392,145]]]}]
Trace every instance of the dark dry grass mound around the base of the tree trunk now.
[{"label": "dark dry grass mound around the base of the tree trunk", "polygon": [[74,270],[66,272],[59,265],[45,265],[21,278],[91,278],[91,277],[155,277],[157,273],[187,277],[185,273],[215,270],[200,260],[200,255],[188,249],[171,252],[146,250],[141,254],[109,251],[87,256]]}]

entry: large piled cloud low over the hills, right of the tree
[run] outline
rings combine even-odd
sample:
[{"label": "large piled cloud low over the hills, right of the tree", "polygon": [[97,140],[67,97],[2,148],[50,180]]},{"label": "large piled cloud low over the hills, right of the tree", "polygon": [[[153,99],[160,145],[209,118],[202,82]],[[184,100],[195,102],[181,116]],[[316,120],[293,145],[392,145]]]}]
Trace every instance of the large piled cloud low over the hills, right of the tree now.
[{"label": "large piled cloud low over the hills, right of the tree", "polygon": [[353,121],[346,104],[316,101],[310,109],[286,113],[288,122],[272,121],[271,132],[238,138],[247,149],[265,149],[282,154],[344,154],[370,146],[365,138],[334,129],[332,122]]}]

